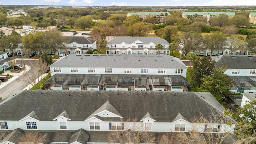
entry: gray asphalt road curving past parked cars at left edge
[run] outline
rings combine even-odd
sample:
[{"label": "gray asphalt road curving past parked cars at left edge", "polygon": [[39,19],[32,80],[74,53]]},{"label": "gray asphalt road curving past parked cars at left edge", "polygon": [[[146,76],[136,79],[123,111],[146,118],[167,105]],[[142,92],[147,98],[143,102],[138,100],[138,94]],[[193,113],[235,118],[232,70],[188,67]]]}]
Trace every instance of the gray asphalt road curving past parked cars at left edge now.
[{"label": "gray asphalt road curving past parked cars at left edge", "polygon": [[[31,69],[34,68],[32,64],[30,64],[30,61],[32,60],[24,60],[25,65],[31,66]],[[21,60],[16,60],[17,64],[21,64]],[[31,70],[28,71],[28,74],[31,72]],[[22,77],[22,76],[21,76]],[[2,97],[2,101],[6,101],[12,97],[12,95],[18,94],[20,90],[23,90],[28,86],[28,83],[19,80],[21,77],[18,79],[10,82],[6,86],[0,89],[0,96]]]}]

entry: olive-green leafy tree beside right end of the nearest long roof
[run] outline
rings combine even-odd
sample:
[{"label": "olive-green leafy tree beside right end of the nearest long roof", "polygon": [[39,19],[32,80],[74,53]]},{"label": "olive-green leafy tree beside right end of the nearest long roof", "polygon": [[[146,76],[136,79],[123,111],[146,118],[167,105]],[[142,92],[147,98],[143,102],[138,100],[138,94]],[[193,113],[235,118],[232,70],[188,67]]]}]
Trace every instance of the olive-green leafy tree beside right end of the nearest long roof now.
[{"label": "olive-green leafy tree beside right end of the nearest long roof", "polygon": [[219,101],[221,97],[227,97],[230,94],[230,88],[233,86],[233,79],[227,74],[226,66],[212,68],[212,75],[204,75],[202,84],[199,87],[200,92],[210,92]]}]

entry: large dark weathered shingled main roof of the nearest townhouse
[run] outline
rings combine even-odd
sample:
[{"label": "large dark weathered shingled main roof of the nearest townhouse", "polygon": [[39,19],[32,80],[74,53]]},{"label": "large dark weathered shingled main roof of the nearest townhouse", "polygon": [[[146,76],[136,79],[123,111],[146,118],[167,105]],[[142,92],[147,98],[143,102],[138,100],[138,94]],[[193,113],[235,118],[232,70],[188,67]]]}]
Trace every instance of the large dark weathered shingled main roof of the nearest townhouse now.
[{"label": "large dark weathered shingled main roof of the nearest townhouse", "polygon": [[0,105],[0,120],[20,120],[34,110],[40,121],[52,121],[66,110],[72,121],[84,121],[107,101],[124,121],[139,121],[147,112],[157,122],[172,122],[179,113],[190,121],[223,111],[207,92],[24,90]]}]

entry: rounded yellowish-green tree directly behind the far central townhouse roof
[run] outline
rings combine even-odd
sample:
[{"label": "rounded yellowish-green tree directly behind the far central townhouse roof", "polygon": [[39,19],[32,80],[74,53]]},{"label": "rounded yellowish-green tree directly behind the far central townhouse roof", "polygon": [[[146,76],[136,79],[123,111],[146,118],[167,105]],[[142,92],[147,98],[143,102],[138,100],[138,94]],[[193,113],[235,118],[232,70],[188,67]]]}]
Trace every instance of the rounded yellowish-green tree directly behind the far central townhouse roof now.
[{"label": "rounded yellowish-green tree directly behind the far central townhouse roof", "polygon": [[127,28],[128,36],[146,36],[150,31],[150,25],[146,25],[143,22],[138,22]]}]

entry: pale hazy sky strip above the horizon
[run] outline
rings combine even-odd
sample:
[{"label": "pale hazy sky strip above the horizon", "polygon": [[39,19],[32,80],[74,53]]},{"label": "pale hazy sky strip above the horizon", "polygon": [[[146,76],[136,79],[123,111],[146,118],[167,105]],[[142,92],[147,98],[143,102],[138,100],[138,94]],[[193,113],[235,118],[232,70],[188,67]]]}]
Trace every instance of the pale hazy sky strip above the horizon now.
[{"label": "pale hazy sky strip above the horizon", "polygon": [[2,5],[62,6],[252,6],[256,0],[0,0]]}]

